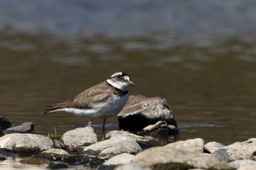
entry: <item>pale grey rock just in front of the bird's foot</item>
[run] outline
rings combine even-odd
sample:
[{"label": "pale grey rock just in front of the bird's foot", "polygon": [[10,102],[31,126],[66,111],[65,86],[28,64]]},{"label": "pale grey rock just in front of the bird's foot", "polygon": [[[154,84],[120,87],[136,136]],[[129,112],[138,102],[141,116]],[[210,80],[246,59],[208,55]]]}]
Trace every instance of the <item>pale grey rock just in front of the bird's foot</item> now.
[{"label": "pale grey rock just in front of the bird's foot", "polygon": [[97,156],[102,159],[108,159],[123,152],[137,153],[140,151],[140,145],[126,136],[111,137],[105,141],[91,144],[89,147],[81,147],[78,150],[81,154]]}]

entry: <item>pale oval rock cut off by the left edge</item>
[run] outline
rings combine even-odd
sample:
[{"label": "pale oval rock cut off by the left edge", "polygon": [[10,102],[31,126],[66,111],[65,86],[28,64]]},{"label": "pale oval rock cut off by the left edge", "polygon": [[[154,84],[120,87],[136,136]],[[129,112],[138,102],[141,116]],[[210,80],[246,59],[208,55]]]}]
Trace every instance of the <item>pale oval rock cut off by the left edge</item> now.
[{"label": "pale oval rock cut off by the left edge", "polygon": [[12,152],[42,152],[52,144],[48,137],[38,134],[7,134],[0,138],[0,150]]}]

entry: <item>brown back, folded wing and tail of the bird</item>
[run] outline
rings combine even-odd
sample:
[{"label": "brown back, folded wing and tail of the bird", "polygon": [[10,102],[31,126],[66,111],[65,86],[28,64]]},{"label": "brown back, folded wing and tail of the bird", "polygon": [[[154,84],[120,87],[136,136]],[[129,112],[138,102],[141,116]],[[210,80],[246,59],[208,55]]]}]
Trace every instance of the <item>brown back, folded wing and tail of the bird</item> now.
[{"label": "brown back, folded wing and tail of the bird", "polygon": [[52,112],[59,112],[62,108],[80,108],[80,109],[89,109],[94,104],[101,103],[105,100],[111,100],[112,93],[110,87],[106,82],[101,82],[98,85],[84,90],[82,93],[75,96],[75,98],[70,99],[69,101],[64,101],[59,104],[52,104],[48,106],[48,109],[42,111],[42,114],[48,114]]}]

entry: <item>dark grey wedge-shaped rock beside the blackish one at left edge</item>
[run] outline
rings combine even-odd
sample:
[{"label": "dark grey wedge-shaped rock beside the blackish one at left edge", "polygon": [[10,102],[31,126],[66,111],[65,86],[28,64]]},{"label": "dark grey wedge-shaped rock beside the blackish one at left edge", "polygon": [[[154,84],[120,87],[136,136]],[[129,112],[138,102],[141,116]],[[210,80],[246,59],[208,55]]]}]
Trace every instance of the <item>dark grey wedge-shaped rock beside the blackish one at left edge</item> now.
[{"label": "dark grey wedge-shaped rock beside the blackish one at left edge", "polygon": [[14,126],[12,128],[7,128],[4,134],[34,134],[34,124],[31,122],[26,122],[21,125]]}]

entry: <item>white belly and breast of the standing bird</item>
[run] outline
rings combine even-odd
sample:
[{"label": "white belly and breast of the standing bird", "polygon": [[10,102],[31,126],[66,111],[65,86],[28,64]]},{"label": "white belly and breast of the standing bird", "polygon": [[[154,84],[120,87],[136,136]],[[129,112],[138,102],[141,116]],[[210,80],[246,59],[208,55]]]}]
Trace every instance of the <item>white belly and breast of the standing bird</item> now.
[{"label": "white belly and breast of the standing bird", "polygon": [[128,97],[128,93],[121,97],[114,95],[113,100],[105,103],[95,104],[91,109],[64,108],[61,109],[61,111],[69,112],[78,117],[106,119],[121,112],[121,109],[123,109],[125,104],[127,104]]}]

